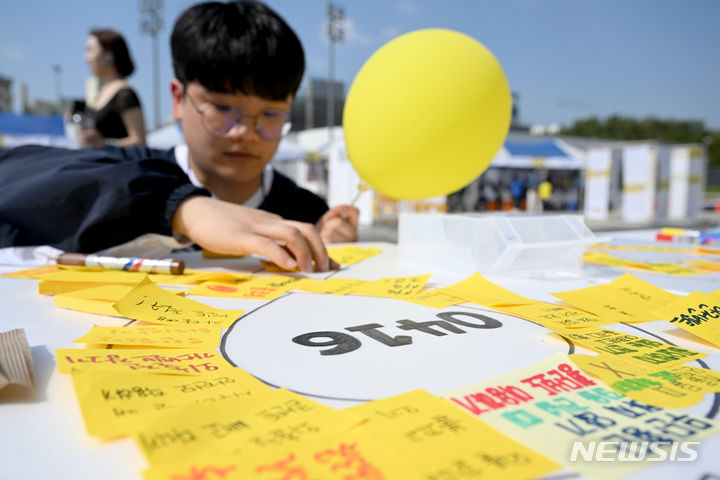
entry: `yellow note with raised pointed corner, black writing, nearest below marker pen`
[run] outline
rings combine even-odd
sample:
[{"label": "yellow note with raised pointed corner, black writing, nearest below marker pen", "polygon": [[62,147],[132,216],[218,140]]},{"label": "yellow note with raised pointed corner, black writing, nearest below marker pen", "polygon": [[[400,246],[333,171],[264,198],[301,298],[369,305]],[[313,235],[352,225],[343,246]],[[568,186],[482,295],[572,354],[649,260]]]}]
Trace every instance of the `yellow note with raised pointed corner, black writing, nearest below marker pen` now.
[{"label": "yellow note with raised pointed corner, black writing, nearest below marker pen", "polygon": [[220,310],[179,297],[147,279],[114,306],[126,317],[169,326],[226,328],[243,313],[243,310]]}]

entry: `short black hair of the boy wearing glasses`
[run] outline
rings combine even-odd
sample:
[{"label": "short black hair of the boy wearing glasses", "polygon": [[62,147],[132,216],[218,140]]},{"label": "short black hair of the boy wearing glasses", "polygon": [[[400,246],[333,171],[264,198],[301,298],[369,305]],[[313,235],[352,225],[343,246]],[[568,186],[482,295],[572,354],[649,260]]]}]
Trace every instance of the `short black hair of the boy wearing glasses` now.
[{"label": "short black hair of the boy wearing glasses", "polygon": [[285,100],[300,87],[305,54],[295,32],[263,3],[207,2],[185,10],[170,37],[175,77],[213,92]]}]

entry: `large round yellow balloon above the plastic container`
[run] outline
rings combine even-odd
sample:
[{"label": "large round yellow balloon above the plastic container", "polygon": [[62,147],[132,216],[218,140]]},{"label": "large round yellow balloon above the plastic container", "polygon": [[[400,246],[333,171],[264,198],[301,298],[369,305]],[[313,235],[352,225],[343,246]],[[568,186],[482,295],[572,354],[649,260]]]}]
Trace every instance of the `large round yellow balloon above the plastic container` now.
[{"label": "large round yellow balloon above the plastic container", "polygon": [[502,146],[510,88],[493,54],[452,30],[402,35],[375,52],[343,112],[347,153],[378,192],[418,200],[477,178]]}]

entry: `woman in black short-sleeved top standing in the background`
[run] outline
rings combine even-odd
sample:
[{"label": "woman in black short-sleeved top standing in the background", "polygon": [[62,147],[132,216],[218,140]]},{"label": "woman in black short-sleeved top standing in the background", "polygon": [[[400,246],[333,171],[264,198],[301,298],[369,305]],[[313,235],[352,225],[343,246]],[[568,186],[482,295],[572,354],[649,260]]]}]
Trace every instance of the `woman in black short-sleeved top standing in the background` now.
[{"label": "woman in black short-sleeved top standing in the background", "polygon": [[101,87],[95,101],[88,105],[91,126],[80,132],[80,143],[87,147],[144,145],[142,106],[125,81],[135,70],[125,39],[114,30],[92,30],[86,42],[85,61],[100,79]]}]

